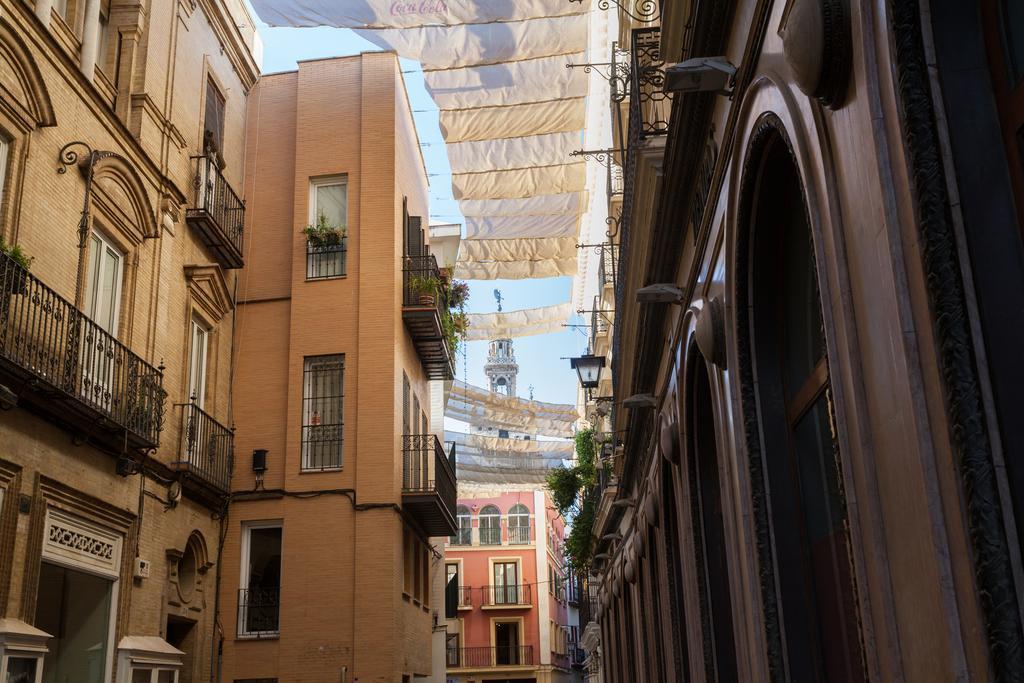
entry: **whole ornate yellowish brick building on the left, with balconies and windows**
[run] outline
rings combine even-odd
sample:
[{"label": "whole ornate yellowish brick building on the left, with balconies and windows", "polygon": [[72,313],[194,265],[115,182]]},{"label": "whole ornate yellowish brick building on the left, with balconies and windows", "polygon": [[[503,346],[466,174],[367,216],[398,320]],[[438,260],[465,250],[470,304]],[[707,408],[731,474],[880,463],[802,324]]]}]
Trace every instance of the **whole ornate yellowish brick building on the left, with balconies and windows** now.
[{"label": "whole ornate yellowish brick building on the left, with balconies and windows", "polygon": [[2,680],[216,663],[258,49],[240,0],[0,0]]}]

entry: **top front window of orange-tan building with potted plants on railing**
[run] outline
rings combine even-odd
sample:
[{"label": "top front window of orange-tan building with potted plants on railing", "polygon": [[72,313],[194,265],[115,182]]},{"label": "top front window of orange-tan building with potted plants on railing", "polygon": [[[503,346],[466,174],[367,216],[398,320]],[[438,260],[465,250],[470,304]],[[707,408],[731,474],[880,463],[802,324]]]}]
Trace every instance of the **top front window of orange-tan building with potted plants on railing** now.
[{"label": "top front window of orange-tan building with potted plants on railing", "polygon": [[344,276],[348,268],[348,179],[345,176],[310,181],[309,224],[317,231],[306,240],[306,280]]}]

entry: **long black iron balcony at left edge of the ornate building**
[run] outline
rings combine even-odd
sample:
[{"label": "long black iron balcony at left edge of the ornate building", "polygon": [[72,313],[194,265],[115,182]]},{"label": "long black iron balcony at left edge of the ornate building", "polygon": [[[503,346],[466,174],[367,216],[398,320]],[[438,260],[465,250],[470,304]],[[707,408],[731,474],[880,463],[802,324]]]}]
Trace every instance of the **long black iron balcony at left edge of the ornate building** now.
[{"label": "long black iron balcony at left edge of the ornate building", "polygon": [[160,444],[163,373],[0,253],[0,384],[112,452]]}]

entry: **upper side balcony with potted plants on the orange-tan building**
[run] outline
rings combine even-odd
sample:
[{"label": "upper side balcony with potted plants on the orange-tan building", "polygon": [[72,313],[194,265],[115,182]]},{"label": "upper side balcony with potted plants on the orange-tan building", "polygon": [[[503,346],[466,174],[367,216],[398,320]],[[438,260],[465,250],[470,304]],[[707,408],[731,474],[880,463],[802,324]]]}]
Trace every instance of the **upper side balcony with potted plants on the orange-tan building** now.
[{"label": "upper side balcony with potted plants on the orange-tan building", "polygon": [[455,379],[455,353],[444,334],[445,321],[451,318],[447,301],[441,293],[423,294],[416,284],[424,280],[441,279],[433,254],[407,256],[402,267],[401,319],[406,323],[413,346],[420,356],[427,379]]}]

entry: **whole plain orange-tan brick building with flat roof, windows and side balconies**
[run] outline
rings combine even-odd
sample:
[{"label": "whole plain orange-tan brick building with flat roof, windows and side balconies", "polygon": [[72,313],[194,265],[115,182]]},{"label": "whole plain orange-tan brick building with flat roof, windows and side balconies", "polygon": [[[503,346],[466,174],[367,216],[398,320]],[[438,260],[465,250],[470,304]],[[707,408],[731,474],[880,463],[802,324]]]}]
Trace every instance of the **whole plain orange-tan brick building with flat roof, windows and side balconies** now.
[{"label": "whole plain orange-tan brick building with flat roof, windows and side balconies", "polygon": [[456,482],[434,429],[454,349],[397,57],[264,76],[246,159],[223,680],[442,672],[435,537]]}]

